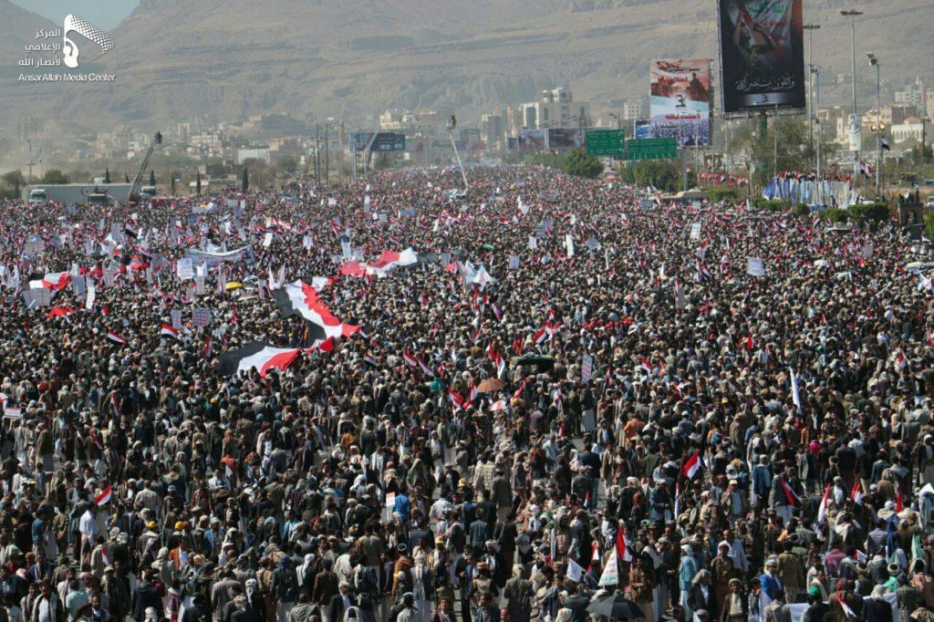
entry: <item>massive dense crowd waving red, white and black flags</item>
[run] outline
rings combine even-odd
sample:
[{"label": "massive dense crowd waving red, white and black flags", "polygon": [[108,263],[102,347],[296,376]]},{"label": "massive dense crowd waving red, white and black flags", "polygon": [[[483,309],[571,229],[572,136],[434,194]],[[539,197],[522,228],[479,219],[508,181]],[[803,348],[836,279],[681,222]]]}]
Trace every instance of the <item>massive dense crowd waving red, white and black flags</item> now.
[{"label": "massive dense crowd waving red, white and black flags", "polygon": [[3,205],[0,620],[929,622],[927,241],[459,178]]}]

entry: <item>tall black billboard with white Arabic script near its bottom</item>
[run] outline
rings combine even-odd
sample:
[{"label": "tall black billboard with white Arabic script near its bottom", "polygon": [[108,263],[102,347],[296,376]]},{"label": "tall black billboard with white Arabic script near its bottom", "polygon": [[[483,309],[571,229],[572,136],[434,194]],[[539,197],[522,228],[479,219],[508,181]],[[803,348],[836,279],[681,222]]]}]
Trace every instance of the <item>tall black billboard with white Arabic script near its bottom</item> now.
[{"label": "tall black billboard with white Arabic script near its bottom", "polygon": [[801,0],[717,0],[723,111],[804,107]]}]

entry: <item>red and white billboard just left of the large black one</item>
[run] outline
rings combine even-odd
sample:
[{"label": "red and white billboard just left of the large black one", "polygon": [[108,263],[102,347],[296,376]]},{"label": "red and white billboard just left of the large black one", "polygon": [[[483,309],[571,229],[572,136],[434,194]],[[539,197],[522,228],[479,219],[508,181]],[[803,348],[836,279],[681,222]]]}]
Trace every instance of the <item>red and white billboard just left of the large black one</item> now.
[{"label": "red and white billboard just left of the large black one", "polygon": [[710,145],[710,64],[707,59],[652,61],[653,138],[680,145]]}]

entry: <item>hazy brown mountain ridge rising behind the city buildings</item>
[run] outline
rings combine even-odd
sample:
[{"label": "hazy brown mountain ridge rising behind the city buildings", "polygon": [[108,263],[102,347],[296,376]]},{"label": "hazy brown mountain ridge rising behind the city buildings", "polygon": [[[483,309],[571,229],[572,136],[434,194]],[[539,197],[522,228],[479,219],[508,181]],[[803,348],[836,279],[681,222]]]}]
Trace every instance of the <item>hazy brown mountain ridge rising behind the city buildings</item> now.
[{"label": "hazy brown mountain ridge rising behind the city buildings", "polygon": [[[8,4],[0,0],[0,9]],[[857,21],[861,107],[871,105],[870,94],[874,101],[875,83],[861,49],[883,59],[894,85],[930,72],[918,59],[934,44],[916,37],[908,49],[902,39],[934,19],[934,4],[806,1],[805,21],[822,25],[814,35],[822,104],[849,99],[848,83],[838,84],[849,75],[844,7],[868,13]],[[467,118],[566,86],[599,114],[646,98],[653,58],[715,59],[717,35],[711,0],[480,0],[470,11],[450,0],[349,8],[331,0],[143,0],[111,33],[117,48],[88,70],[116,74],[113,84],[63,85],[54,107],[48,89],[14,85],[0,89],[0,105],[149,130],[268,112],[358,120],[393,107],[457,109]]]}]

